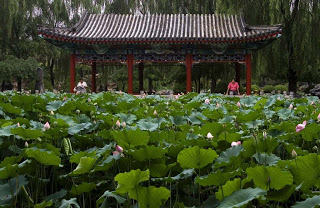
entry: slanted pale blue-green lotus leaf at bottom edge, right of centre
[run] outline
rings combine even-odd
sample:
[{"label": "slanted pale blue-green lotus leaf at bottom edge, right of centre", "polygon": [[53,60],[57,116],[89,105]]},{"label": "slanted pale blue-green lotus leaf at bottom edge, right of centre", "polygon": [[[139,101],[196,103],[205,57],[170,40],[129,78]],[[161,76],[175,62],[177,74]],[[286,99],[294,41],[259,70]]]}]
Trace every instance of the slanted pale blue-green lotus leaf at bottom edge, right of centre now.
[{"label": "slanted pale blue-green lotus leaf at bottom edge, right of centre", "polygon": [[218,208],[233,208],[233,207],[243,207],[250,201],[265,196],[267,191],[260,188],[248,188],[240,189],[230,196],[224,198]]}]

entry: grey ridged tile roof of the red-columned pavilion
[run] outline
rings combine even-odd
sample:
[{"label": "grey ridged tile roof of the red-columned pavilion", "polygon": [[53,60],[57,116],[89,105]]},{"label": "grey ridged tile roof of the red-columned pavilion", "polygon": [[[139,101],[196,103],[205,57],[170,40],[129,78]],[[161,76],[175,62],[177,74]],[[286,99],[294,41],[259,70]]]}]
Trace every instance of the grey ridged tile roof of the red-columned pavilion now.
[{"label": "grey ridged tile roof of the red-columned pavilion", "polygon": [[85,13],[71,28],[39,27],[45,38],[65,42],[243,42],[271,39],[281,25],[249,26],[242,15]]}]

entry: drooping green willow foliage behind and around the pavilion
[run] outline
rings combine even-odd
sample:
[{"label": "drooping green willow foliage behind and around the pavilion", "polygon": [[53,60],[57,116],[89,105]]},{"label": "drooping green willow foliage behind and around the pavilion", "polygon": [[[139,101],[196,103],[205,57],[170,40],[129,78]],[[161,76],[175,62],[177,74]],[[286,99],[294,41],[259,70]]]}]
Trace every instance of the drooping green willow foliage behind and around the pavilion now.
[{"label": "drooping green willow foliage behind and around the pavilion", "polygon": [[[59,88],[60,84],[67,90],[68,52],[41,40],[37,36],[37,25],[72,26],[79,20],[84,9],[95,13],[120,14],[243,13],[250,25],[280,23],[284,27],[282,38],[253,55],[254,83],[264,86],[289,82],[289,91],[295,91],[298,81],[308,82],[309,85],[319,82],[319,0],[2,0],[0,1],[0,61],[7,55],[24,60],[33,57],[46,69],[45,78],[50,80],[54,88]],[[157,90],[176,88],[177,92],[181,91],[185,82],[183,65],[154,64],[148,66],[147,70],[155,73],[148,73],[145,78],[146,90],[150,88],[148,84],[151,83]],[[137,80],[137,70],[134,71]],[[9,70],[2,74],[0,81],[12,79],[6,76],[6,73],[10,73]],[[98,86],[102,84],[104,88],[106,82],[117,81],[119,89],[126,89],[126,68],[123,65],[99,64],[98,73]],[[78,78],[84,76],[86,81],[89,81],[90,67],[78,65],[77,76]],[[195,65],[194,90],[210,89],[211,86],[215,89],[220,79],[229,81],[232,77],[234,77],[233,64]],[[245,78],[244,73],[242,77]],[[137,89],[138,84],[135,83],[135,86]]]}]

